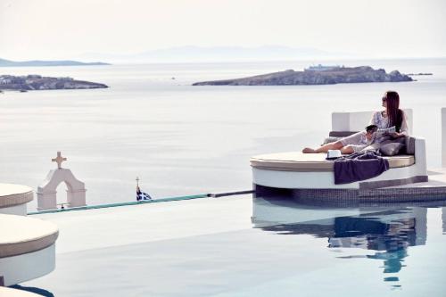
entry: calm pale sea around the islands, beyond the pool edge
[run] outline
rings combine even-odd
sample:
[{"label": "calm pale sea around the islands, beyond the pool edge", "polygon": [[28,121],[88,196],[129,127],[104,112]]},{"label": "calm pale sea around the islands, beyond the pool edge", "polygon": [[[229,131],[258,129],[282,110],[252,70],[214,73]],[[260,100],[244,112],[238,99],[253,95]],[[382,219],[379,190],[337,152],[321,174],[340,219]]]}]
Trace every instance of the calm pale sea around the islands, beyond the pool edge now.
[{"label": "calm pale sea around the islands, beyond the pool edge", "polygon": [[[246,190],[252,155],[319,144],[331,112],[379,110],[389,89],[414,110],[413,132],[426,139],[429,167],[441,166],[446,59],[325,63],[434,76],[405,83],[192,87],[201,80],[301,70],[310,62],[2,68],[1,74],[68,76],[110,88],[0,94],[0,181],[37,189],[62,151],[68,158],[63,167],[86,183],[88,204],[134,200],[136,176],[155,198]],[[58,187],[58,202],[66,201],[64,188]]]}]

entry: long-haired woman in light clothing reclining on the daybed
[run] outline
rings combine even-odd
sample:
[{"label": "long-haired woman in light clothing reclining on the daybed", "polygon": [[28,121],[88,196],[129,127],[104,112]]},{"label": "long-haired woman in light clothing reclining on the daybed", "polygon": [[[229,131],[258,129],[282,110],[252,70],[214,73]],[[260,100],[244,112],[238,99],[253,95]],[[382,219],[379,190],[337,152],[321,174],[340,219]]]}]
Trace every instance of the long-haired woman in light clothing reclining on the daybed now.
[{"label": "long-haired woman in light clothing reclining on the daybed", "polygon": [[382,143],[389,138],[395,139],[408,135],[408,122],[406,114],[400,109],[400,95],[394,91],[387,91],[383,97],[384,111],[376,111],[372,119],[371,125],[376,125],[378,128],[395,127],[396,132],[389,136],[384,136],[376,139],[371,132],[361,131],[351,136],[342,138],[334,143],[324,144],[317,149],[306,147],[302,153],[326,153],[328,150],[341,150],[341,153],[356,153],[360,152],[370,144]]}]

